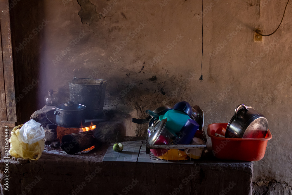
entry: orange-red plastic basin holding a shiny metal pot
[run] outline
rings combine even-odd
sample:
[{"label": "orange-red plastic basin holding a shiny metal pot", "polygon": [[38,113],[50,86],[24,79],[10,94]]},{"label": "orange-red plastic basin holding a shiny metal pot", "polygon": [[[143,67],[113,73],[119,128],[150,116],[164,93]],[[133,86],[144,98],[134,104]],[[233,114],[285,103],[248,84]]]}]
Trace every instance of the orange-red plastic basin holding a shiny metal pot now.
[{"label": "orange-red plastic basin holding a shiny metal pot", "polygon": [[212,153],[215,157],[228,160],[259,161],[265,156],[268,140],[272,139],[270,130],[268,130],[266,137],[262,139],[225,138],[215,136],[215,131],[219,127],[226,129],[227,124],[228,123],[213,123],[208,125],[207,134],[211,137]]}]

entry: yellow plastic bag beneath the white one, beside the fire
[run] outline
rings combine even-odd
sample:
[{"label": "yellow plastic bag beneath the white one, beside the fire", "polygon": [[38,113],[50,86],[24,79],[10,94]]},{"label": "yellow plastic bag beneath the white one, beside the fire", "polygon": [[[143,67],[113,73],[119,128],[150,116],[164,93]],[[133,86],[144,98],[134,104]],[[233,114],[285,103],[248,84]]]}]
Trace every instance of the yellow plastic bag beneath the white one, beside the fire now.
[{"label": "yellow plastic bag beneath the white one, beside the fire", "polygon": [[[24,159],[29,158],[31,160],[38,160],[41,157],[42,151],[44,151],[45,149],[44,139],[36,141],[35,143],[32,144],[27,144],[21,141],[19,129],[20,127],[23,127],[23,125],[18,125],[17,127],[14,127],[13,130],[11,131],[11,137],[9,139],[10,155],[16,158],[22,157]],[[34,156],[37,157],[34,158]]]}]

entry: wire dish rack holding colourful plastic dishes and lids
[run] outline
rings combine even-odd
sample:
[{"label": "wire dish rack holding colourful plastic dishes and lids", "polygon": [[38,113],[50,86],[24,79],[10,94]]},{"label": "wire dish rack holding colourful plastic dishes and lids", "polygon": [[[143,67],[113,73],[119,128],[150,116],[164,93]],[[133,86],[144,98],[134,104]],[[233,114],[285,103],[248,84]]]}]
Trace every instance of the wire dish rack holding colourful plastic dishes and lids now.
[{"label": "wire dish rack holding colourful plastic dishes and lids", "polygon": [[[166,160],[166,161],[190,161],[192,159],[200,159],[203,151],[207,149],[207,137],[204,130],[200,139],[204,144],[178,144],[178,145],[150,145],[148,142],[149,136],[146,137],[146,153],[149,154],[152,160]],[[157,157],[150,151],[150,149],[166,149],[167,152]],[[185,149],[192,149],[192,155],[187,155]]]}]

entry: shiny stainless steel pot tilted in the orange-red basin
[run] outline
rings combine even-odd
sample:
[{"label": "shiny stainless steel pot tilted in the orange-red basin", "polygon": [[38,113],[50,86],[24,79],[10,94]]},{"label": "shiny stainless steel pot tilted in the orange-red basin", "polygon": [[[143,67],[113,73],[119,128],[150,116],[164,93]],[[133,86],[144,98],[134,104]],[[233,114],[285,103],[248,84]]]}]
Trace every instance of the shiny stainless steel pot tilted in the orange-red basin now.
[{"label": "shiny stainless steel pot tilted in the orange-red basin", "polygon": [[240,104],[226,127],[225,137],[264,138],[268,130],[268,121],[253,107]]}]

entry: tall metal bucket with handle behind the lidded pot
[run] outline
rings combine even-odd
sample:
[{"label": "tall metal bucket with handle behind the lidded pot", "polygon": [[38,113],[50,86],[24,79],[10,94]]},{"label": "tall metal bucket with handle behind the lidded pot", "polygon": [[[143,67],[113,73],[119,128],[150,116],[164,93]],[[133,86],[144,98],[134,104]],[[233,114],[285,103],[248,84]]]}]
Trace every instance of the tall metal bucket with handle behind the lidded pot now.
[{"label": "tall metal bucket with handle behind the lidded pot", "polygon": [[86,106],[86,119],[99,118],[105,102],[107,81],[102,79],[76,78],[69,81],[72,101]]}]

